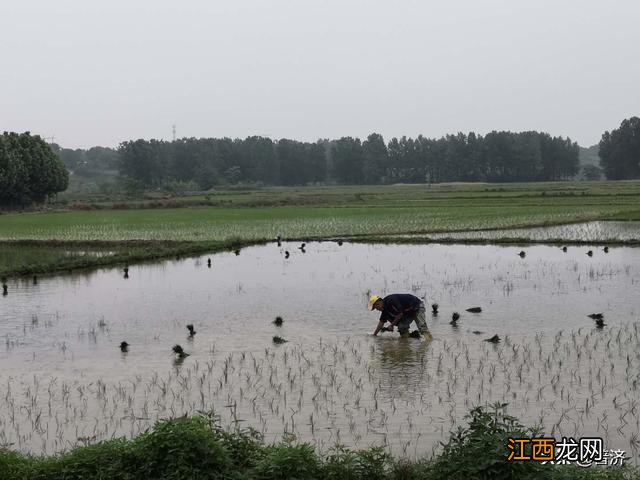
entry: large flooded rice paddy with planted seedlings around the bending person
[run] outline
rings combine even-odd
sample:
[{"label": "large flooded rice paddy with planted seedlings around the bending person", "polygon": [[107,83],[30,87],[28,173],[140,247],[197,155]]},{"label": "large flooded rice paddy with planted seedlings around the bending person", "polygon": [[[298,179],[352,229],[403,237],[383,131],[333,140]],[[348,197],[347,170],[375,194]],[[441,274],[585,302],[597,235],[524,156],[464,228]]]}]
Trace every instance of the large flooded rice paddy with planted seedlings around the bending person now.
[{"label": "large flooded rice paddy with planted seedlings around the bending person", "polygon": [[[51,453],[214,411],[267,440],[415,457],[500,401],[556,438],[603,437],[637,461],[639,248],[297,247],[131,266],[128,279],[113,268],[8,282],[0,445]],[[371,336],[368,295],[395,292],[440,305],[433,342]],[[587,317],[600,312],[603,328]],[[501,343],[483,341],[494,334]]]}]

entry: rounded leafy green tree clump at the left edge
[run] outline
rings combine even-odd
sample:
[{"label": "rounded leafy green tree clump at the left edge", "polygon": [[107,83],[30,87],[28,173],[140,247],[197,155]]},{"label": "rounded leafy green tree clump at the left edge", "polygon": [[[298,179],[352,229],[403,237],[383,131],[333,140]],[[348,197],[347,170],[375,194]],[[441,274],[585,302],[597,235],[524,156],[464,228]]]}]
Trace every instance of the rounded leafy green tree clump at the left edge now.
[{"label": "rounded leafy green tree clump at the left edge", "polygon": [[64,163],[39,136],[29,132],[0,136],[0,205],[43,202],[68,184]]}]

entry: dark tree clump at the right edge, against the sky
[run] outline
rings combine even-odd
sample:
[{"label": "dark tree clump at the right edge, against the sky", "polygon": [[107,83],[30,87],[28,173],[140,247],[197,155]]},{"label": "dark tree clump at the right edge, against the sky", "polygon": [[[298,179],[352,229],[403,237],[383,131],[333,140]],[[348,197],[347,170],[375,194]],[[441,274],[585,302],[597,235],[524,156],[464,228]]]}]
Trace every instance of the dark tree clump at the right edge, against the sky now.
[{"label": "dark tree clump at the right edge, against the sky", "polygon": [[600,166],[610,180],[640,178],[640,118],[623,120],[602,135]]}]

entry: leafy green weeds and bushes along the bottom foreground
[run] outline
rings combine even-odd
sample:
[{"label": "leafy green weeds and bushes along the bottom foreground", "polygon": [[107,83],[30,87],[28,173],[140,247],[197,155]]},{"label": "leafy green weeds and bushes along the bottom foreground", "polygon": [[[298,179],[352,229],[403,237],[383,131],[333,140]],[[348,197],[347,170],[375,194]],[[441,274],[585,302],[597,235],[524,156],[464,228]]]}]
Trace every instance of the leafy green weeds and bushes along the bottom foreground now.
[{"label": "leafy green weeds and bushes along the bottom foreground", "polygon": [[[0,449],[3,480],[340,479],[554,480],[638,478],[633,468],[508,462],[508,438],[540,436],[504,413],[504,405],[475,408],[469,425],[452,433],[439,456],[397,460],[382,448],[336,446],[318,455],[308,444],[267,445],[250,429],[226,432],[213,416],[158,423],[137,438],[114,439],[66,454],[30,457]],[[527,451],[531,455],[530,451]]]}]

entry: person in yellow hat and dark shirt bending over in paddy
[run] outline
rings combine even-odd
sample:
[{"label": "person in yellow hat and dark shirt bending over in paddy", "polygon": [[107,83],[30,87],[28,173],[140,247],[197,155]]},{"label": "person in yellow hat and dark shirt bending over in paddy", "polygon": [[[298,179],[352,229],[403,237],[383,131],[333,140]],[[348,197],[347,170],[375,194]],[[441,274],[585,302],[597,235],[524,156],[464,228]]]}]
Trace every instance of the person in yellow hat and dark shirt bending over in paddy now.
[{"label": "person in yellow hat and dark shirt bending over in paddy", "polygon": [[[400,336],[406,337],[409,335],[411,323],[416,322],[422,340],[431,340],[433,338],[429,328],[427,328],[424,303],[414,295],[394,293],[384,298],[378,295],[371,295],[369,308],[382,312],[378,326],[373,332],[374,335],[380,333],[383,328],[393,332],[393,328],[397,326]],[[384,324],[386,322],[389,322],[389,326],[385,328]]]}]

